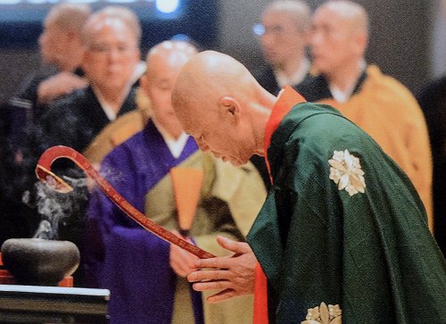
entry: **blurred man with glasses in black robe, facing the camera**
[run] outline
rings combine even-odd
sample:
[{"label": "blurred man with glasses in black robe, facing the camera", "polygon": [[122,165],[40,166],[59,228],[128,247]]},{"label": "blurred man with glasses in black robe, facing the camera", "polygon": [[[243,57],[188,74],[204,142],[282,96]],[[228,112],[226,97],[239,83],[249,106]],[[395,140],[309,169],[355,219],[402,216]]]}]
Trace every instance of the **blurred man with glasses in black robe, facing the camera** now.
[{"label": "blurred man with glasses in black robe, facing the camera", "polygon": [[87,21],[82,37],[89,85],[54,101],[40,118],[34,129],[37,155],[53,145],[82,152],[111,120],[136,108],[141,38],[136,15],[125,7],[104,7]]}]

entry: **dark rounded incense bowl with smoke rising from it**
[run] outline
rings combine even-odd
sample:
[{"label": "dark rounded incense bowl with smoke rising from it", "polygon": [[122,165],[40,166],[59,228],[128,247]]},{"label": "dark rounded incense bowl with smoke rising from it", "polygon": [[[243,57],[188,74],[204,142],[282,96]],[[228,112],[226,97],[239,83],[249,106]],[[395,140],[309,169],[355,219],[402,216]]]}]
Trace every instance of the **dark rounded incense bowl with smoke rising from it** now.
[{"label": "dark rounded incense bowl with smoke rising from it", "polygon": [[57,286],[78,269],[79,250],[69,241],[10,238],[2,245],[2,259],[19,285]]}]

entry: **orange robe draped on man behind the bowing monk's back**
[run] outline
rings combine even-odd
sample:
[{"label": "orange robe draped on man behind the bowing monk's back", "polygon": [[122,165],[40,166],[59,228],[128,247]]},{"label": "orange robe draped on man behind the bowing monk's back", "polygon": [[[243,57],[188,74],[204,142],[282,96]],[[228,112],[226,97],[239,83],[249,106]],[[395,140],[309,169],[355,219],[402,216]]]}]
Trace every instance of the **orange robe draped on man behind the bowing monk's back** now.
[{"label": "orange robe draped on man behind the bowing monk's back", "polygon": [[432,154],[425,117],[417,100],[399,81],[368,66],[359,91],[345,103],[322,99],[364,129],[384,152],[406,172],[417,188],[434,228],[432,202]]}]

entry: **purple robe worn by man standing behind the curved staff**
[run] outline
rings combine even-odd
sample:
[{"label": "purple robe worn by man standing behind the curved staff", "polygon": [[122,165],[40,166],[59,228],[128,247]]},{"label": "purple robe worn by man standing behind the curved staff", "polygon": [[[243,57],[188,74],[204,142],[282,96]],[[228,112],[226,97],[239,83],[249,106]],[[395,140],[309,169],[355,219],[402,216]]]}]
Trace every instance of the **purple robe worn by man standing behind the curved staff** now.
[{"label": "purple robe worn by man standing behind the curved staff", "polygon": [[[172,167],[198,149],[192,137],[177,158],[152,121],[108,154],[101,171],[130,204],[145,212],[145,195]],[[169,244],[141,228],[98,189],[87,209],[86,286],[111,291],[111,323],[170,323],[177,276],[169,266]],[[89,248],[93,247],[94,248]],[[201,295],[192,291],[195,323],[202,323]]]}]

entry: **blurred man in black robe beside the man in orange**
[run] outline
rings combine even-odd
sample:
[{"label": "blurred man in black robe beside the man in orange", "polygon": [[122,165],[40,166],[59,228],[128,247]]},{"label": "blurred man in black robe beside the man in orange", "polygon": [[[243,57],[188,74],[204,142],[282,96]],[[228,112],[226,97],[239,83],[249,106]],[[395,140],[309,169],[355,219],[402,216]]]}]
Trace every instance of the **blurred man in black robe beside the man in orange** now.
[{"label": "blurred man in black robe beside the man in orange", "polygon": [[[297,86],[308,75],[310,62],[306,55],[311,26],[310,8],[300,0],[274,1],[262,13],[260,46],[265,64],[253,71],[262,87],[277,95],[285,85]],[[257,26],[259,28],[259,26]],[[263,159],[252,156],[265,187],[271,187]]]}]

